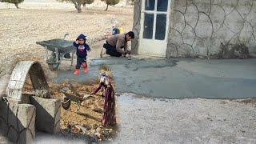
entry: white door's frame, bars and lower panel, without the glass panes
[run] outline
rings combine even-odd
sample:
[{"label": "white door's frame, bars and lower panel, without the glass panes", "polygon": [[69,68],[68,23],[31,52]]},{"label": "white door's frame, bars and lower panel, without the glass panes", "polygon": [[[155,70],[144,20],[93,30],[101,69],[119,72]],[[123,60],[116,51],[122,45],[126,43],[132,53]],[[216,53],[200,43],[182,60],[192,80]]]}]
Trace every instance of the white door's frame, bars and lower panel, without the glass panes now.
[{"label": "white door's frame, bars and lower panel, without the glass panes", "polygon": [[[168,33],[170,29],[170,3],[172,0],[168,0],[167,11],[157,11],[158,0],[154,2],[154,10],[145,10],[146,0],[142,0],[142,10],[141,10],[141,30],[139,34],[139,45],[138,45],[138,54],[150,55],[156,57],[166,57],[166,48],[168,42]],[[153,38],[147,39],[143,38],[144,32],[144,15],[154,14],[154,23],[153,23]],[[155,30],[156,30],[156,18],[157,14],[166,14],[166,36],[164,40],[155,39]],[[160,50],[159,50],[160,49]]]}]

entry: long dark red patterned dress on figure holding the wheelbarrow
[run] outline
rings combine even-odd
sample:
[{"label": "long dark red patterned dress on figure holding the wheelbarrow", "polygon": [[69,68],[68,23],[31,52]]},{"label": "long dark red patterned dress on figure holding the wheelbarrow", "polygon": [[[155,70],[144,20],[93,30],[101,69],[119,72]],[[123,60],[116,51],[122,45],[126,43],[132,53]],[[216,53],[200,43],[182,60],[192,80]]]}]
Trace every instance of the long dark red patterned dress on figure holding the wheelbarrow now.
[{"label": "long dark red patterned dress on figure holding the wheelbarrow", "polygon": [[105,97],[105,102],[102,116],[102,124],[104,126],[113,126],[116,124],[113,86],[111,84],[106,86],[103,82],[101,82],[92,94],[96,94],[98,90],[101,90],[102,87],[104,87],[105,89],[105,93],[103,94],[103,96]]}]

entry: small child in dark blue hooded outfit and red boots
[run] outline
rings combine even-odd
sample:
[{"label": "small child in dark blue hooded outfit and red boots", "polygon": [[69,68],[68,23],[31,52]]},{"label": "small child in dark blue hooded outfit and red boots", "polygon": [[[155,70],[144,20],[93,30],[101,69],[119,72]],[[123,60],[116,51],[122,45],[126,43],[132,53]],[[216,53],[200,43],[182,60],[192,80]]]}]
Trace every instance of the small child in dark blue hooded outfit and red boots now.
[{"label": "small child in dark blue hooded outfit and red boots", "polygon": [[86,44],[86,36],[84,34],[80,34],[73,45],[77,49],[77,66],[75,66],[74,74],[78,75],[80,67],[83,67],[83,71],[86,74],[88,72],[88,66],[86,63],[87,51],[90,52],[90,46]]}]

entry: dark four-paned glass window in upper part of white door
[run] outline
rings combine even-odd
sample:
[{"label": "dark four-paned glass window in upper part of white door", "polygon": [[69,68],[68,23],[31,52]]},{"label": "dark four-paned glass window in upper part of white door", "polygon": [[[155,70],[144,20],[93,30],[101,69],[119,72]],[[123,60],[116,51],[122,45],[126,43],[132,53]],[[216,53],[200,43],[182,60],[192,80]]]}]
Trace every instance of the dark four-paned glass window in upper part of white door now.
[{"label": "dark four-paned glass window in upper part of white door", "polygon": [[166,39],[168,0],[145,0],[143,38]]}]

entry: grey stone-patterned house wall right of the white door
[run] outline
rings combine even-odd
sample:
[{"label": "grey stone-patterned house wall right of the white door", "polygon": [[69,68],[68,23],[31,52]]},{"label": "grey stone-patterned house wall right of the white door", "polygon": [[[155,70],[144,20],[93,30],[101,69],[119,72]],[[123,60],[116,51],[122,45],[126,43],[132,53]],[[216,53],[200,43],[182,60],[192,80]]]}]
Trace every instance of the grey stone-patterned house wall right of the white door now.
[{"label": "grey stone-patterned house wall right of the white door", "polygon": [[167,57],[218,57],[221,43],[255,56],[255,0],[176,0],[172,7]]}]

